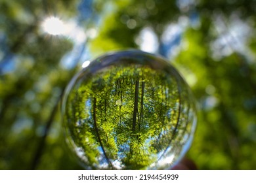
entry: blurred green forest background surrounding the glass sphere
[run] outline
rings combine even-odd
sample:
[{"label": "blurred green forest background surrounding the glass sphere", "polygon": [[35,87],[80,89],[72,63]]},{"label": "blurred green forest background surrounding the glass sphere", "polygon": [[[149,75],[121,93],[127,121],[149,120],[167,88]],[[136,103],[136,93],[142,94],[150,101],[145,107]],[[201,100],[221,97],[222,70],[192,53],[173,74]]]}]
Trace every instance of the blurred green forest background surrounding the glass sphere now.
[{"label": "blurred green forest background surrounding the glass sphere", "polygon": [[[81,169],[62,135],[64,88],[85,58],[144,44],[198,101],[188,152],[198,168],[256,169],[255,9],[254,0],[0,0],[0,169]],[[76,31],[47,34],[49,16]]]}]

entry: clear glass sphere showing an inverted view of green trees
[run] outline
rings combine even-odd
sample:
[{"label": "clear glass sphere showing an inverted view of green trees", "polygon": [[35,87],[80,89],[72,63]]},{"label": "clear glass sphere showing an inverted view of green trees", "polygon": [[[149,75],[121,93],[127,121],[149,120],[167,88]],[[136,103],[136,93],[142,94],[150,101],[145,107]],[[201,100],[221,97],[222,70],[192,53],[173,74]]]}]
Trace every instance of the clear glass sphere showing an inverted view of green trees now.
[{"label": "clear glass sphere showing an inverted view of green trees", "polygon": [[170,63],[126,50],[91,61],[72,78],[62,119],[85,169],[170,169],[190,148],[196,109]]}]

